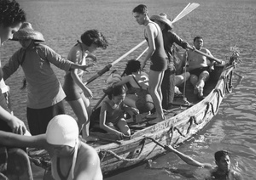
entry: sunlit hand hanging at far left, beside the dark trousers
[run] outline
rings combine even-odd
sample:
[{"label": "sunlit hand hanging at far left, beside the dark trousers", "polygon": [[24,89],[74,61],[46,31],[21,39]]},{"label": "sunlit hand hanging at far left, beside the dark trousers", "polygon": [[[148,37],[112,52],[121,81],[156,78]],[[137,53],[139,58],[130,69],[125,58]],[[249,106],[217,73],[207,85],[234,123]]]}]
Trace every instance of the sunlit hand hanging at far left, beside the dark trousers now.
[{"label": "sunlit hand hanging at far left, beside the dark trousers", "polygon": [[10,121],[8,121],[8,125],[12,129],[12,132],[16,134],[23,135],[26,132],[26,126],[24,122],[17,118],[15,115],[13,115]]}]

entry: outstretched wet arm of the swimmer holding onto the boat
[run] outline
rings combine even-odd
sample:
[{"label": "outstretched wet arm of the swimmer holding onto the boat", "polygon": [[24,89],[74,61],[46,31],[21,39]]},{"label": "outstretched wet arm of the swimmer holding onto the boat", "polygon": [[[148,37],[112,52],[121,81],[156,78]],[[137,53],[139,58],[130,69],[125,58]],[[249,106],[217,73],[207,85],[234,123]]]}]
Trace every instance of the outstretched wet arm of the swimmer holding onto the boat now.
[{"label": "outstretched wet arm of the swimmer holding onto the boat", "polygon": [[180,159],[182,159],[185,163],[191,165],[191,166],[198,166],[198,167],[204,167],[204,168],[212,168],[211,164],[208,163],[201,163],[197,160],[192,159],[189,157],[189,155],[184,155],[182,152],[177,151],[177,149],[172,148],[172,146],[166,146],[165,149],[167,151],[171,151],[175,153]]}]

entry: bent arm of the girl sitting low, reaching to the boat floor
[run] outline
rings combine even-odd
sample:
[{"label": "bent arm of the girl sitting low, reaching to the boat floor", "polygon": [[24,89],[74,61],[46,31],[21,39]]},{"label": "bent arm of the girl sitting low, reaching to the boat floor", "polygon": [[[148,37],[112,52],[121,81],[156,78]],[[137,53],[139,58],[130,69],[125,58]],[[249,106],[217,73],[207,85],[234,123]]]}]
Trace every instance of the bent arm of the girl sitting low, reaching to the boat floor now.
[{"label": "bent arm of the girl sitting low, reaching to the boat floor", "polygon": [[108,110],[108,107],[107,107],[106,102],[102,102],[102,109],[101,109],[101,114],[100,114],[100,127],[107,132],[117,134],[118,136],[122,137],[123,136],[122,132],[119,132],[119,131],[117,131],[111,127],[108,127],[106,125],[107,110]]}]

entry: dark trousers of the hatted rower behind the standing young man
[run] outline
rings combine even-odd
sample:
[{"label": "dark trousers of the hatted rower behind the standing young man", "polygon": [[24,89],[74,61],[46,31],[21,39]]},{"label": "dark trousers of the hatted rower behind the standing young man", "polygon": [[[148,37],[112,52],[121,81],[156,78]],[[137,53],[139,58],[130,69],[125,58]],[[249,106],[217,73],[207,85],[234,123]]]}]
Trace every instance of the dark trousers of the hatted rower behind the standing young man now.
[{"label": "dark trousers of the hatted rower behind the standing young man", "polygon": [[163,94],[162,107],[168,110],[172,106],[172,101],[174,98],[174,88],[175,88],[175,70],[171,69],[169,66],[165,71],[164,79],[161,84],[161,92]]}]

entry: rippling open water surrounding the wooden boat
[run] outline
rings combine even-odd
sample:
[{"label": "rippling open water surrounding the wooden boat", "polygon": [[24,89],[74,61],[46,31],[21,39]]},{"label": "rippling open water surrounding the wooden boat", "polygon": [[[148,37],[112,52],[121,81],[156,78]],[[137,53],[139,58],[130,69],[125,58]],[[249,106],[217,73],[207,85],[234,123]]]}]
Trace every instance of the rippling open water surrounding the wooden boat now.
[{"label": "rippling open water surrounding the wooden boat", "polygon": [[[86,77],[95,75],[108,63],[143,41],[143,27],[133,19],[131,9],[139,3],[148,5],[150,14],[165,12],[174,18],[188,3],[186,0],[18,0],[25,8],[27,19],[34,29],[41,31],[46,44],[63,57],[85,30],[99,29],[108,38],[110,46],[106,50],[98,50],[98,64],[90,70]],[[203,132],[193,140],[182,144],[179,150],[196,160],[208,161],[214,164],[213,153],[219,149],[230,150],[231,160],[237,171],[245,179],[255,179],[256,172],[256,82],[254,62],[256,44],[256,1],[255,0],[204,0],[195,1],[201,6],[175,24],[174,31],[192,43],[195,36],[204,37],[206,48],[212,54],[225,59],[230,52],[230,46],[237,45],[241,51],[243,63],[236,72],[243,76],[243,81],[233,93],[224,98],[223,103],[213,121]],[[17,42],[7,42],[1,48],[2,64],[9,59],[20,45]],[[142,47],[139,50],[143,50]],[[128,59],[136,58],[139,51],[132,53],[114,69],[122,70]],[[64,72],[56,70],[63,82]],[[108,75],[108,73],[106,73]],[[15,115],[26,121],[26,92],[20,91],[22,70],[18,70],[9,78],[7,84],[11,87],[12,103]],[[104,77],[90,84],[90,89],[96,104],[102,96]],[[73,115],[67,105],[67,112]],[[236,166],[235,166],[236,165]],[[202,179],[203,170],[185,165],[172,153],[153,160],[153,168],[145,164],[125,172],[120,172],[108,180],[128,179]],[[42,179],[38,170],[36,179]]]}]

